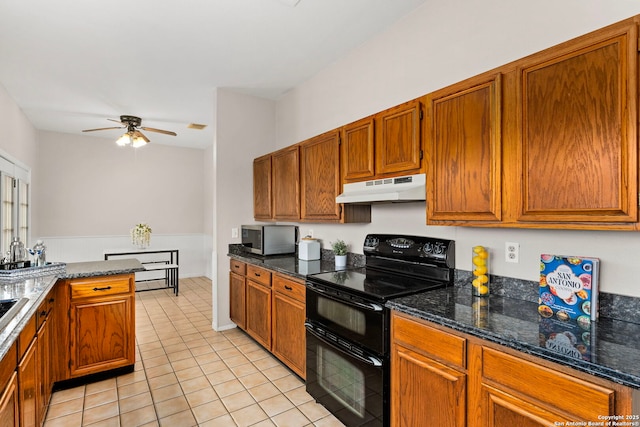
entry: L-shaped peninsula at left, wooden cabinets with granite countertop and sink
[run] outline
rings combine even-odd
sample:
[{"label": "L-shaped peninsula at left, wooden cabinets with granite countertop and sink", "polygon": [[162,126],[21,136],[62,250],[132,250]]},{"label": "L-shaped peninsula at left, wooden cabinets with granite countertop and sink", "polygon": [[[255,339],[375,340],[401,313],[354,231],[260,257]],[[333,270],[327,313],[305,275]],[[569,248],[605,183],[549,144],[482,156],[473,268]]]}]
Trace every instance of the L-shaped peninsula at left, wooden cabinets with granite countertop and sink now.
[{"label": "L-shaped peninsula at left, wooden cabinets with granite countertop and sink", "polygon": [[123,259],[4,278],[2,298],[20,307],[0,331],[3,422],[40,425],[54,384],[133,370],[134,273],[143,269],[138,260]]}]

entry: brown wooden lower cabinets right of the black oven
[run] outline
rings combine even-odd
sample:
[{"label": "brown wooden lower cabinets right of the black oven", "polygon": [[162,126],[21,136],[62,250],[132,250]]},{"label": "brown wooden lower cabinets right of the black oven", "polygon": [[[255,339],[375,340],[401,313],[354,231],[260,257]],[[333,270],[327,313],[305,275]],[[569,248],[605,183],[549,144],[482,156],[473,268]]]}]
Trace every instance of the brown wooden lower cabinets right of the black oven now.
[{"label": "brown wooden lower cabinets right of the black oven", "polygon": [[542,427],[634,413],[628,387],[397,312],[391,330],[394,427]]}]

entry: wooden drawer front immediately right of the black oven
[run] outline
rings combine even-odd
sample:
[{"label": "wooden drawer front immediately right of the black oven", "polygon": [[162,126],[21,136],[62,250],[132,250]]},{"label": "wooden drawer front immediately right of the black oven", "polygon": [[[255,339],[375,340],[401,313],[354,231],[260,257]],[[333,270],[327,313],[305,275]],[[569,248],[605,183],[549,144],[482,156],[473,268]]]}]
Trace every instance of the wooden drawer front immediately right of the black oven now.
[{"label": "wooden drawer front immediately right of the black oven", "polygon": [[437,359],[456,366],[466,366],[467,340],[448,334],[424,323],[406,317],[393,315],[393,342],[400,342],[420,349]]}]

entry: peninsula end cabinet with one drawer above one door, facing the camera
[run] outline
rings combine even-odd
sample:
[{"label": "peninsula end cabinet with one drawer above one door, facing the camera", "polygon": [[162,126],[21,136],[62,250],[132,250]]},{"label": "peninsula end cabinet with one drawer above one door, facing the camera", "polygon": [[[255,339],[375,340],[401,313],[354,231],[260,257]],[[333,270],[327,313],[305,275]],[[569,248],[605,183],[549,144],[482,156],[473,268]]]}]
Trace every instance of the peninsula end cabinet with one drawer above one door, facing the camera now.
[{"label": "peninsula end cabinet with one drawer above one door, facing the camera", "polygon": [[66,280],[68,371],[76,378],[135,364],[134,275]]}]

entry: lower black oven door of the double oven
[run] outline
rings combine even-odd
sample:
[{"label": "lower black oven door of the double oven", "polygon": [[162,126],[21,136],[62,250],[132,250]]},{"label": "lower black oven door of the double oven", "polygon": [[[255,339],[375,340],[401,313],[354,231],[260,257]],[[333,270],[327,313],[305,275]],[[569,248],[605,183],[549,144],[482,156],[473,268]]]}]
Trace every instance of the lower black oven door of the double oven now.
[{"label": "lower black oven door of the double oven", "polygon": [[305,326],[307,393],[348,427],[388,426],[389,361],[320,326]]}]

